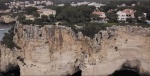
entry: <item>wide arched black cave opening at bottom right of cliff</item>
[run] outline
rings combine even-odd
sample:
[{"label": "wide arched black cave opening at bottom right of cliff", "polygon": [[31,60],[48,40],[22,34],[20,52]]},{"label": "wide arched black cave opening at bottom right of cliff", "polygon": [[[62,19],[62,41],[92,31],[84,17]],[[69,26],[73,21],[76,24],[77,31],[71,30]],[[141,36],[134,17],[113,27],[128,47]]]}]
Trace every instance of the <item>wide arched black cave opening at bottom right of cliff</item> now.
[{"label": "wide arched black cave opening at bottom right of cliff", "polygon": [[122,69],[122,70],[115,71],[110,76],[140,76],[140,74],[131,69]]}]

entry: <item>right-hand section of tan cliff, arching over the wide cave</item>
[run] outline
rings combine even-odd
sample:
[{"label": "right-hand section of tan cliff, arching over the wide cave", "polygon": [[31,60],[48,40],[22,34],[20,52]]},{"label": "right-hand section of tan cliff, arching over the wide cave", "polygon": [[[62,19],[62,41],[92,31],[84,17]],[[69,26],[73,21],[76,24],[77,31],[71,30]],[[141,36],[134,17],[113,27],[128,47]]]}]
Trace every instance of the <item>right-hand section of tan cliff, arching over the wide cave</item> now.
[{"label": "right-hand section of tan cliff, arching over the wide cave", "polygon": [[138,68],[140,74],[149,72],[149,28],[110,27],[107,31],[102,31],[101,41],[102,47],[99,53],[105,51],[106,59],[96,62],[95,65],[87,64],[87,68],[82,70],[83,75],[109,75],[123,68],[125,63],[128,64],[126,66],[128,68]]}]

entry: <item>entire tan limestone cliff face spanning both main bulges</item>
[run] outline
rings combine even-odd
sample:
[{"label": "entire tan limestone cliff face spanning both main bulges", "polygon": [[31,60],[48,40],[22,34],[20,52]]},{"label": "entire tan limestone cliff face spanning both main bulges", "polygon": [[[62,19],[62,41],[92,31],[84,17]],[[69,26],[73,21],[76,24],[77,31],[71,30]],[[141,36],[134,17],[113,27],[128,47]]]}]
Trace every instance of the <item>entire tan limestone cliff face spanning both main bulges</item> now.
[{"label": "entire tan limestone cliff face spanning both main bulges", "polygon": [[109,75],[122,68],[150,73],[150,28],[113,26],[93,39],[63,26],[15,28],[14,42],[22,49],[13,51],[13,62],[22,76],[72,75],[79,70],[82,75]]}]

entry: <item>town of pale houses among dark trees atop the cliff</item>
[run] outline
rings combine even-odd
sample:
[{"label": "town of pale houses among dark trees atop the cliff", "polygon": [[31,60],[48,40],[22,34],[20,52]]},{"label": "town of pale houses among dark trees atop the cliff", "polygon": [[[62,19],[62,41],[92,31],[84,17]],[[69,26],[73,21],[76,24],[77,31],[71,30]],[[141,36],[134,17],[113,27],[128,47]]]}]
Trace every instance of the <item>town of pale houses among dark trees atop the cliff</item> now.
[{"label": "town of pale houses among dark trees atop the cliff", "polygon": [[[11,1],[1,2],[1,21],[6,23],[20,21],[27,24],[54,23],[67,21],[71,23],[147,23],[150,24],[149,2],[72,2],[70,4],[53,3],[51,1]],[[69,8],[70,7],[70,8]],[[78,9],[78,8],[80,9]],[[85,8],[87,9],[85,9]],[[68,10],[67,10],[68,9]],[[70,9],[70,11],[69,11]],[[91,11],[92,10],[92,11]],[[74,11],[74,12],[71,12]],[[81,15],[76,16],[81,12]],[[69,14],[68,14],[69,13]],[[87,16],[84,16],[87,14]],[[65,19],[70,16],[76,19]],[[87,19],[84,20],[83,17]],[[37,23],[38,22],[38,23]]]}]

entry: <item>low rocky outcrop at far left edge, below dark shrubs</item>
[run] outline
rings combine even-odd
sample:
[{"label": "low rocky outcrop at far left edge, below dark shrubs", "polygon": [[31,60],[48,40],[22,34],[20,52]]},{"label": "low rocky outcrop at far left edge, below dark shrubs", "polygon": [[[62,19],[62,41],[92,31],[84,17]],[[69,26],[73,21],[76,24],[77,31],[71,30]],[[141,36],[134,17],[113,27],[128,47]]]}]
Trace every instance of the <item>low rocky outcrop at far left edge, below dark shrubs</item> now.
[{"label": "low rocky outcrop at far left edge, below dark shrubs", "polygon": [[18,65],[16,58],[19,55],[19,52],[0,45],[0,71],[8,72],[16,67]]}]

